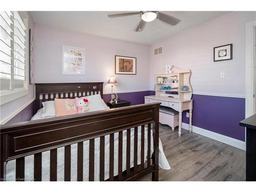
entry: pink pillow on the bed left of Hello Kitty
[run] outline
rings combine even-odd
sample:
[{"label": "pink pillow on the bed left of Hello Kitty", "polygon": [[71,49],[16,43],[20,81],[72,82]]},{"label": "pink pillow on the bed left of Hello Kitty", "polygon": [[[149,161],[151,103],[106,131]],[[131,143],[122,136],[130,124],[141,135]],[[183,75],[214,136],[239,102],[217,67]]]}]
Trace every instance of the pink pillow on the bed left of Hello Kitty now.
[{"label": "pink pillow on the bed left of Hello Kitty", "polygon": [[77,114],[75,99],[58,99],[55,98],[56,116]]}]

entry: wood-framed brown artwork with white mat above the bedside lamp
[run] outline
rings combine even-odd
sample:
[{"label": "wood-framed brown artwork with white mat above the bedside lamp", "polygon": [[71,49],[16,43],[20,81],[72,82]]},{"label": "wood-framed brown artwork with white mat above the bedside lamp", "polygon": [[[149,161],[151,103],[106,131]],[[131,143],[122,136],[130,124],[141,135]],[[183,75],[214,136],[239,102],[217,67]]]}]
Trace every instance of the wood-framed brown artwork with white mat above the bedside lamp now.
[{"label": "wood-framed brown artwork with white mat above the bedside lamp", "polygon": [[115,74],[136,75],[136,57],[115,55]]}]

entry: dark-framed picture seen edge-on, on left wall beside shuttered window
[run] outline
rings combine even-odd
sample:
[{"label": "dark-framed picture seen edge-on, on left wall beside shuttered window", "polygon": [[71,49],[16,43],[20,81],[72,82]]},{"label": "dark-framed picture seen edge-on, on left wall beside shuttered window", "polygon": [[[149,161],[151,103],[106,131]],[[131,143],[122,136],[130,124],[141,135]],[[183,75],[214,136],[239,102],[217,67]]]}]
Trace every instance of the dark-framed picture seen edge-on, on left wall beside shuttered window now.
[{"label": "dark-framed picture seen edge-on, on left wall beside shuttered window", "polygon": [[29,29],[29,84],[34,84],[34,35]]}]

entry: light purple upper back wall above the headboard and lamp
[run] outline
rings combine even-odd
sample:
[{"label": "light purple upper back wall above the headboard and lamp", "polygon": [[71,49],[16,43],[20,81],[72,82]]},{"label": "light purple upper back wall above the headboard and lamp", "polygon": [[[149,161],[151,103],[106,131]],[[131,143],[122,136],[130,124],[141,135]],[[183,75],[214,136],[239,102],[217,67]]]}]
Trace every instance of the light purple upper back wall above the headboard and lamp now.
[{"label": "light purple upper back wall above the headboard and lamp", "polygon": [[[86,75],[62,75],[62,46],[86,49]],[[137,58],[136,75],[115,75],[114,91],[149,90],[150,47],[135,42],[35,26],[35,82],[108,82],[115,75],[115,55]],[[103,92],[111,86],[104,84]]]}]

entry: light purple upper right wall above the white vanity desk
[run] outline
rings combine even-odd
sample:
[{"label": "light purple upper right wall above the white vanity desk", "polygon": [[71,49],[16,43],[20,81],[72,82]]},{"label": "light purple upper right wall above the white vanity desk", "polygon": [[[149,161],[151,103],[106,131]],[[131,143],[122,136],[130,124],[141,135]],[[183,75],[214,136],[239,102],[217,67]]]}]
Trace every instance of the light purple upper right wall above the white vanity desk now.
[{"label": "light purple upper right wall above the white vanity desk", "polygon": [[[256,12],[232,12],[210,22],[159,41],[151,46],[150,79],[166,65],[191,70],[193,93],[245,97],[245,23],[256,20]],[[233,59],[214,62],[214,47],[233,44]],[[154,48],[163,53],[154,56]],[[220,78],[225,72],[225,78]]]}]

